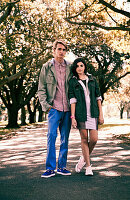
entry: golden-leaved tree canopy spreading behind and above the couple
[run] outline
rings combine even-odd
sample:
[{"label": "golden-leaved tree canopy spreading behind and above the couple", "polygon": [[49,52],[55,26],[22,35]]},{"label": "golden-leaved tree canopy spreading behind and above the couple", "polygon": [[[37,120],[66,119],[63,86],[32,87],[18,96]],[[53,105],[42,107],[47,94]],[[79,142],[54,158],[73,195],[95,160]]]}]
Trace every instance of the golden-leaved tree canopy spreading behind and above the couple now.
[{"label": "golden-leaved tree canopy spreading behind and above the couple", "polygon": [[8,109],[9,125],[17,125],[18,111],[37,99],[39,72],[52,58],[52,43],[57,38],[67,40],[69,51],[86,59],[103,97],[110,88],[117,89],[120,79],[129,73],[128,31],[68,23],[67,18],[111,27],[115,22],[110,14],[120,22],[116,26],[127,27],[128,17],[117,16],[120,6],[118,1],[1,0],[0,97]]}]

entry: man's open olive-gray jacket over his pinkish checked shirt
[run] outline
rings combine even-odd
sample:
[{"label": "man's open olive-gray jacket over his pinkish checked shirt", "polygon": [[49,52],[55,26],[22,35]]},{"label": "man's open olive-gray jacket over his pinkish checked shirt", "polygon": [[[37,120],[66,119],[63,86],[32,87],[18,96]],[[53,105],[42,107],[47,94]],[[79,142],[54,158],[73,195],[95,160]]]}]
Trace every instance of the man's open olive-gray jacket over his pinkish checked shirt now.
[{"label": "man's open olive-gray jacket over his pinkish checked shirt", "polygon": [[[70,68],[71,64],[66,62],[66,80],[65,80],[65,91],[66,97],[69,104],[68,99],[68,82],[71,78]],[[56,70],[54,67],[54,58],[51,61],[48,61],[42,66],[39,84],[38,84],[38,97],[40,104],[42,106],[42,110],[45,112],[49,109],[50,106],[53,105],[53,100],[56,94],[57,87],[57,78],[56,78]]]}]

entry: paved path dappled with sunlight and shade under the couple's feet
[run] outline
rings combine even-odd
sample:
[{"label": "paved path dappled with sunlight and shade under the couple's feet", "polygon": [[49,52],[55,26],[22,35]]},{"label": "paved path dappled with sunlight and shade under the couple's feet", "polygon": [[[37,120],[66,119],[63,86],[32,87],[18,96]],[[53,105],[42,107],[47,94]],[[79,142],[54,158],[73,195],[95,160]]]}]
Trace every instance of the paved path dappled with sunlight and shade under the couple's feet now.
[{"label": "paved path dappled with sunlight and shade under the couple's feet", "polygon": [[27,127],[11,139],[0,141],[0,200],[128,200],[130,150],[128,145],[114,140],[111,131],[99,130],[91,156],[92,177],[84,175],[85,169],[79,174],[74,171],[81,154],[77,130],[71,130],[69,140],[67,168],[71,176],[40,177],[45,169],[46,123]]}]

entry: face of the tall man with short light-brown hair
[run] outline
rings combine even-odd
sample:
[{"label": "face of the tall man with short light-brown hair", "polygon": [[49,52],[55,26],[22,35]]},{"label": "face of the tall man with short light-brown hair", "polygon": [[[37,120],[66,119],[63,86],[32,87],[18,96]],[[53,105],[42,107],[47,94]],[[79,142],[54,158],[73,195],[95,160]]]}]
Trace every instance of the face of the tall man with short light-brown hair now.
[{"label": "face of the tall man with short light-brown hair", "polygon": [[62,44],[57,44],[56,49],[54,50],[54,57],[57,59],[63,59],[66,54],[66,48]]}]

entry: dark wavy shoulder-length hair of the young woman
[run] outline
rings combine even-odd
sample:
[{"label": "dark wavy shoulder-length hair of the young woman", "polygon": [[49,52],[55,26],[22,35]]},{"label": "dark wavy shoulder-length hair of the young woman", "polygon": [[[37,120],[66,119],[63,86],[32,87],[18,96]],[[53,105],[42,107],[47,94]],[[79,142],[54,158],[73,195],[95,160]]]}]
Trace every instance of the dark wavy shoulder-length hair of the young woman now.
[{"label": "dark wavy shoulder-length hair of the young woman", "polygon": [[83,58],[76,58],[71,66],[71,71],[73,73],[74,76],[76,76],[77,78],[79,78],[77,72],[76,72],[76,68],[78,67],[77,63],[82,62],[85,66],[85,70],[84,73],[87,73],[87,64],[85,62],[85,60]]}]

